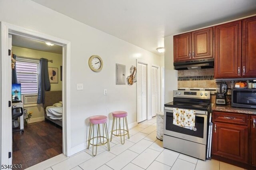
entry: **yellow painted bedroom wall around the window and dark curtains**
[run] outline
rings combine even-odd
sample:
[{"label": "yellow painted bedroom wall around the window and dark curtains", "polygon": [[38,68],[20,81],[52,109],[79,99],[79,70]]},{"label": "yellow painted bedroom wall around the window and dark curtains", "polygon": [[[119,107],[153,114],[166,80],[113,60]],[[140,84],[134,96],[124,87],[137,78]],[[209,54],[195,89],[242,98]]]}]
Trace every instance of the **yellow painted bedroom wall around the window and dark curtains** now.
[{"label": "yellow painted bedroom wall around the window and dark curtains", "polygon": [[[62,55],[56,53],[49,53],[44,51],[38,51],[34,49],[28,49],[23,47],[12,46],[12,53],[18,56],[32,57],[32,58],[46,58],[52,60],[53,63],[48,62],[48,67],[58,68],[58,83],[51,83],[51,91],[62,90],[62,81],[60,81],[60,66],[62,65]],[[42,121],[44,118],[44,107],[42,104],[24,105],[28,109],[28,113],[32,112],[32,117],[29,123]]]}]

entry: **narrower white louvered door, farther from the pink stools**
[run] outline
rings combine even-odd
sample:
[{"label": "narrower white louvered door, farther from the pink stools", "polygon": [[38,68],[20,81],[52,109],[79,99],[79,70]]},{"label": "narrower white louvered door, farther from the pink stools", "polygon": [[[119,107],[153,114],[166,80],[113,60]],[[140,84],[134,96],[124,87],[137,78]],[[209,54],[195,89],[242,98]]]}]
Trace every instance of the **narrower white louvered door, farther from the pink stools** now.
[{"label": "narrower white louvered door, farther from the pink stools", "polygon": [[159,88],[158,67],[151,67],[151,115],[156,116],[158,112],[158,88]]}]

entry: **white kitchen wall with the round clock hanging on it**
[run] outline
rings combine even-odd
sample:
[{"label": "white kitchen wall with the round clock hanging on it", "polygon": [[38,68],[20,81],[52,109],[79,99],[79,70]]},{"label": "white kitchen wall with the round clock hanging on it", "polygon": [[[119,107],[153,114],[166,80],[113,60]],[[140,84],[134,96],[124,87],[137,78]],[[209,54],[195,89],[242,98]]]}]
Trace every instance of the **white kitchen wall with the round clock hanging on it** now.
[{"label": "white kitchen wall with the round clock hanging on it", "polygon": [[[125,110],[128,124],[136,122],[136,83],[116,85],[116,63],[126,65],[128,76],[136,59],[160,65],[158,55],[29,0],[1,0],[0,21],[71,42],[71,147],[86,141],[88,117],[92,115],[108,115],[112,120],[110,112]],[[88,67],[91,55],[102,57],[104,66],[99,73]],[[83,83],[84,90],[77,91],[77,83]],[[106,96],[104,89],[108,90]]]}]

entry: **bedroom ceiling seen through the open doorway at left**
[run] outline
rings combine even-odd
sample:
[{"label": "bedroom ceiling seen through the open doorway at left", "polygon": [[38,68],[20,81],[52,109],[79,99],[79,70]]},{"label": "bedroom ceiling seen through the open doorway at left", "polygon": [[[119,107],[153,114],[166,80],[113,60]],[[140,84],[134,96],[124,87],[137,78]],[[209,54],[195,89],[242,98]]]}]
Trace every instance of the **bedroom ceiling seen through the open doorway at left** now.
[{"label": "bedroom ceiling seen through the open doorway at left", "polygon": [[60,45],[49,46],[46,45],[45,42],[33,40],[22,36],[12,35],[12,45],[17,47],[35,49],[39,51],[46,51],[50,53],[62,54],[62,46]]}]

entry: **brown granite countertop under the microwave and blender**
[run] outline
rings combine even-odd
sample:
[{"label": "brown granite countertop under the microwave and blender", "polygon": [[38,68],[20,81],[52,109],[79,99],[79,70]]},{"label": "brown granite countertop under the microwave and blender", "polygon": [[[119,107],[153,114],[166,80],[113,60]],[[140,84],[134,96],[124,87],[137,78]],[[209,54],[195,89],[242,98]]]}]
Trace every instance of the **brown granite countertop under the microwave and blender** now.
[{"label": "brown granite countertop under the microwave and blender", "polygon": [[246,109],[246,108],[237,108],[231,107],[231,105],[212,105],[212,111],[224,111],[224,112],[234,112],[234,113],[245,113],[256,115],[256,109]]}]

